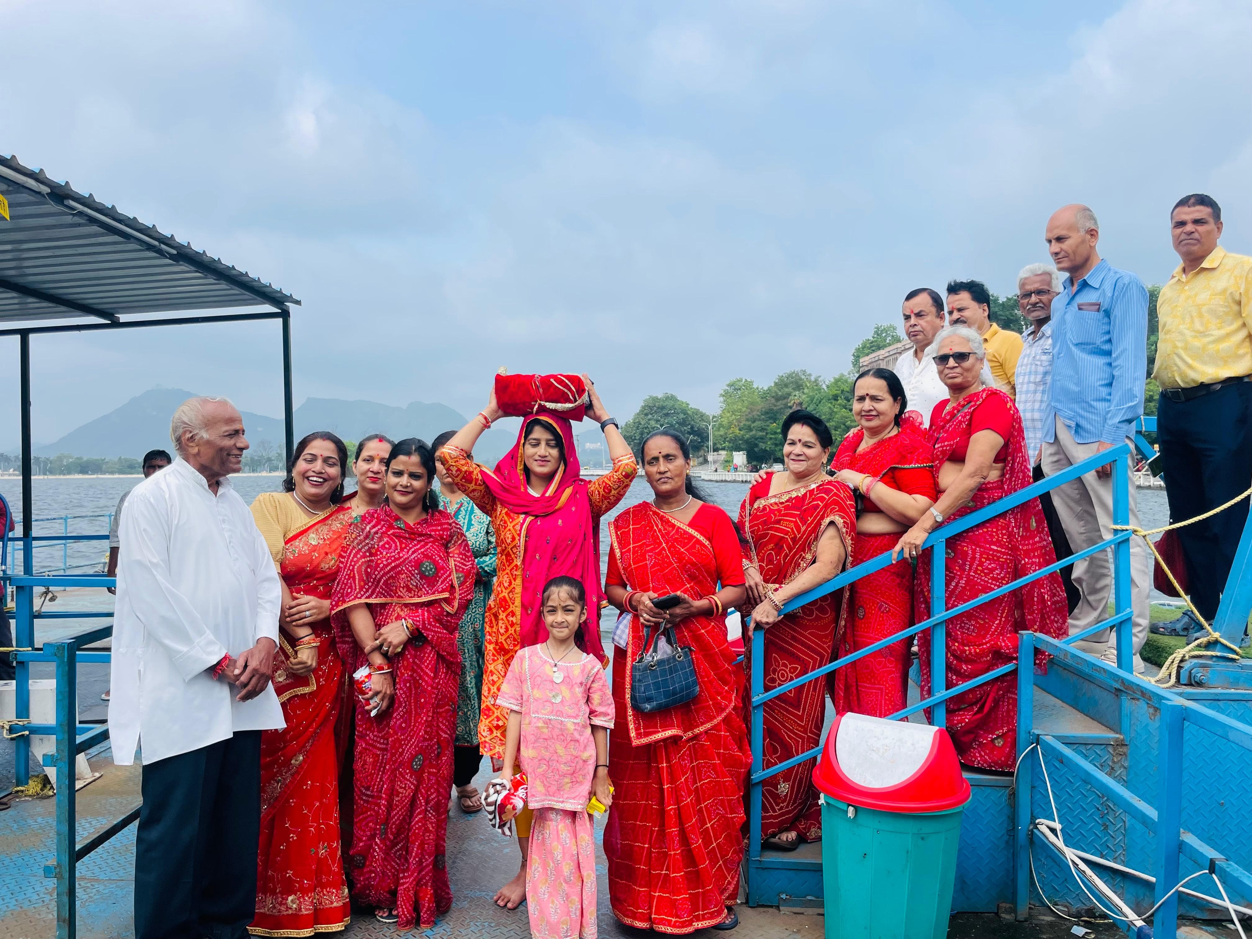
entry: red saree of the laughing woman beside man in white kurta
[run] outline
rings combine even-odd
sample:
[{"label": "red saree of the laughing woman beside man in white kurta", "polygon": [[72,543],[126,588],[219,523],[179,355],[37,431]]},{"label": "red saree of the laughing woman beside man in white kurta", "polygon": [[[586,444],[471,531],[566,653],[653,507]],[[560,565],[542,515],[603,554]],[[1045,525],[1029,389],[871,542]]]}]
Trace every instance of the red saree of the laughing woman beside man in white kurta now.
[{"label": "red saree of the laughing woman beside man in white kurta", "polygon": [[[279,573],[292,593],[331,598],[352,510],[339,506],[290,535]],[[274,657],[274,691],[283,730],[260,735],[260,844],[253,935],[298,936],[348,924],[348,888],[339,849],[339,781],[334,726],[343,666],[331,621],[313,623],[317,669],[287,671],[294,655],[285,636]]]}]

